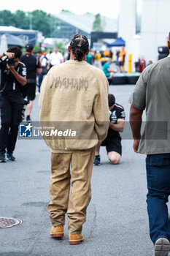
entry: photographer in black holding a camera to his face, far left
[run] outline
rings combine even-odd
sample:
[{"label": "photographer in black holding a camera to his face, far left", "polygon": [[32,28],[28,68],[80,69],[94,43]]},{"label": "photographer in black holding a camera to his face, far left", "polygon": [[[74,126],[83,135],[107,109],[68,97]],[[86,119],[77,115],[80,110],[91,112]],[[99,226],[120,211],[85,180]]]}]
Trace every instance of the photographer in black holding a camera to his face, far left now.
[{"label": "photographer in black holding a camera to his face, far left", "polygon": [[16,160],[13,151],[22,119],[23,86],[26,85],[26,67],[19,61],[21,54],[18,47],[11,47],[0,54],[0,162],[6,162],[6,151],[9,160]]}]

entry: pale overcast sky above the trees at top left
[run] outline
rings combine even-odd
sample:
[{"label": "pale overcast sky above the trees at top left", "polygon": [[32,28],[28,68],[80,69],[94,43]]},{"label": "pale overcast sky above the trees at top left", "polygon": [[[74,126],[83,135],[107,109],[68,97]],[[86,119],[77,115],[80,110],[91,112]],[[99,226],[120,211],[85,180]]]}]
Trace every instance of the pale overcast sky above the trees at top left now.
[{"label": "pale overcast sky above the trees at top left", "polygon": [[61,10],[69,10],[76,14],[91,12],[95,15],[100,13],[109,18],[117,18],[119,1],[120,0],[1,0],[0,10],[9,10],[11,12],[15,12],[16,10],[23,10],[24,12],[43,10],[52,15],[61,12]]}]

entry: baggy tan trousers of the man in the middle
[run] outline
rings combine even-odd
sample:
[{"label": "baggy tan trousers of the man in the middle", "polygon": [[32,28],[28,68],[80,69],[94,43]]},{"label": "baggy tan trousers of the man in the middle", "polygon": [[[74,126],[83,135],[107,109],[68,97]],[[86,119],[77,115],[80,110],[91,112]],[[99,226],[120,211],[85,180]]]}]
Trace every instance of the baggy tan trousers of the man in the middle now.
[{"label": "baggy tan trousers of the man in the middle", "polygon": [[95,148],[73,153],[52,153],[51,202],[47,211],[54,227],[64,225],[67,214],[69,233],[81,233],[91,198],[90,179],[94,156]]}]

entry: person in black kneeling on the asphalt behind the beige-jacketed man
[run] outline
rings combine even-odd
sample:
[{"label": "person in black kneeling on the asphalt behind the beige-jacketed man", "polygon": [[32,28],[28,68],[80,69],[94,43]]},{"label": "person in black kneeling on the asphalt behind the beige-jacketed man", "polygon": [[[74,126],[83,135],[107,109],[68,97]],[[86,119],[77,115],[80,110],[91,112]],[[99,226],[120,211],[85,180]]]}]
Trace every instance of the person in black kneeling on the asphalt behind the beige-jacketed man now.
[{"label": "person in black kneeling on the asphalt behind the beige-jacketed man", "polygon": [[117,165],[122,155],[121,137],[119,132],[123,132],[125,125],[125,111],[123,106],[115,103],[115,96],[108,95],[109,101],[109,129],[107,138],[99,141],[96,145],[96,155],[93,165],[101,165],[100,162],[100,146],[106,146],[107,156],[113,165]]}]

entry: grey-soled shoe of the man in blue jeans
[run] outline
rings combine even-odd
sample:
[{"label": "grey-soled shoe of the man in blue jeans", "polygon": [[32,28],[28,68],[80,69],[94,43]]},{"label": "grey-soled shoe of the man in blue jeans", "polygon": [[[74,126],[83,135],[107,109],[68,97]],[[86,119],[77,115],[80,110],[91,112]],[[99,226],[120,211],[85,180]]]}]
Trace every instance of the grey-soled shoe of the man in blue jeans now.
[{"label": "grey-soled shoe of the man in blue jeans", "polygon": [[155,242],[155,256],[168,256],[170,249],[169,240],[166,238],[159,238]]}]

